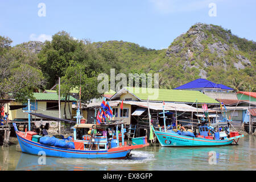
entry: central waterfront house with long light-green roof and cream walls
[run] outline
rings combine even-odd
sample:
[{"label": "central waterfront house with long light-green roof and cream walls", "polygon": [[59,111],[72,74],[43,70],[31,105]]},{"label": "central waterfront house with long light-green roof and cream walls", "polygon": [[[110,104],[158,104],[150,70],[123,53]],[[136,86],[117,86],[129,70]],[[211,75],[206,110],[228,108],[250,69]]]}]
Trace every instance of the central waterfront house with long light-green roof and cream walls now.
[{"label": "central waterfront house with long light-green roof and cream walls", "polygon": [[[136,90],[139,90],[137,92]],[[152,91],[152,90],[151,90]],[[158,97],[148,100],[150,94],[143,93],[142,88],[126,87],[115,93],[109,102],[112,107],[114,119],[122,119],[126,125],[130,127],[137,127],[137,136],[144,135],[148,128],[148,107],[152,123],[154,126],[163,126],[163,101],[165,102],[164,110],[167,113],[167,124],[170,124],[172,114],[177,114],[177,119],[183,125],[189,125],[189,122],[197,122],[200,115],[203,115],[201,105],[207,104],[209,106],[219,105],[219,102],[206,96],[199,91],[192,90],[171,90],[171,89],[153,89],[154,93],[158,92]],[[120,108],[123,102],[123,109]],[[88,104],[82,113],[88,123],[94,123],[97,110],[101,107],[101,102],[93,102]],[[216,122],[216,112],[210,110],[212,114],[212,122]],[[191,123],[190,123],[191,126]]]}]

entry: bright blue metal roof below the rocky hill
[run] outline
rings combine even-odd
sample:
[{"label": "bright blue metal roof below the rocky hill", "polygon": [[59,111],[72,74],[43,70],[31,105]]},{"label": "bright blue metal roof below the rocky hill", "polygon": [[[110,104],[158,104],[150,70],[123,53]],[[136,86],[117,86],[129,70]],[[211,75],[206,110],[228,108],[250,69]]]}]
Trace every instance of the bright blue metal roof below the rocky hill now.
[{"label": "bright blue metal roof below the rocky hill", "polygon": [[219,88],[219,89],[225,89],[225,90],[234,90],[228,86],[225,86],[222,84],[215,84],[214,82],[205,80],[203,78],[193,80],[191,82],[188,82],[187,84],[178,86],[175,89],[180,90],[180,89],[195,89],[195,88]]}]

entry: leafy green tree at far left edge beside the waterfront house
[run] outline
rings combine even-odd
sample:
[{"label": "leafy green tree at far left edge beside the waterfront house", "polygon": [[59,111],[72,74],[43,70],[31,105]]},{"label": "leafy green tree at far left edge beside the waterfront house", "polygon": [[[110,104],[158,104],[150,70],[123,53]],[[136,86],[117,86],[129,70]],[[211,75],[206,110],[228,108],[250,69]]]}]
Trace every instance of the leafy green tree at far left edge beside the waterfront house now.
[{"label": "leafy green tree at far left edge beside the waterfront house", "polygon": [[0,98],[12,97],[20,102],[33,98],[34,89],[43,86],[42,72],[16,59],[22,50],[11,48],[10,39],[0,39]]}]

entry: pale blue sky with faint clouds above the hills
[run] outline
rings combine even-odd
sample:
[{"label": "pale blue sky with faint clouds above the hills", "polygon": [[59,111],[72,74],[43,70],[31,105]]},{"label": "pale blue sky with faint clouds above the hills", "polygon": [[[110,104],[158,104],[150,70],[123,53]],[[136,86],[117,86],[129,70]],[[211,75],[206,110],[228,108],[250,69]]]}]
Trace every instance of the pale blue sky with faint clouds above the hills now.
[{"label": "pale blue sky with faint clouds above the hills", "polygon": [[255,41],[255,7],[255,0],[0,0],[0,35],[15,46],[64,30],[75,39],[162,49],[200,22]]}]

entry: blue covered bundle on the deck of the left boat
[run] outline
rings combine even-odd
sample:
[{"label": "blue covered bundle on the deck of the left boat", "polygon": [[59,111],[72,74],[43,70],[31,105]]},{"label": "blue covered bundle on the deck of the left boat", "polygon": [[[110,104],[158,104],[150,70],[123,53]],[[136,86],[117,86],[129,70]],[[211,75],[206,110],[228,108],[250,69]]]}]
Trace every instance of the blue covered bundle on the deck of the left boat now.
[{"label": "blue covered bundle on the deck of the left boat", "polygon": [[46,146],[55,146],[55,147],[60,147],[60,148],[73,148],[75,149],[75,144],[74,142],[71,142],[72,137],[64,138],[63,139],[58,139],[55,137],[41,137],[39,142],[41,144],[45,144]]}]

